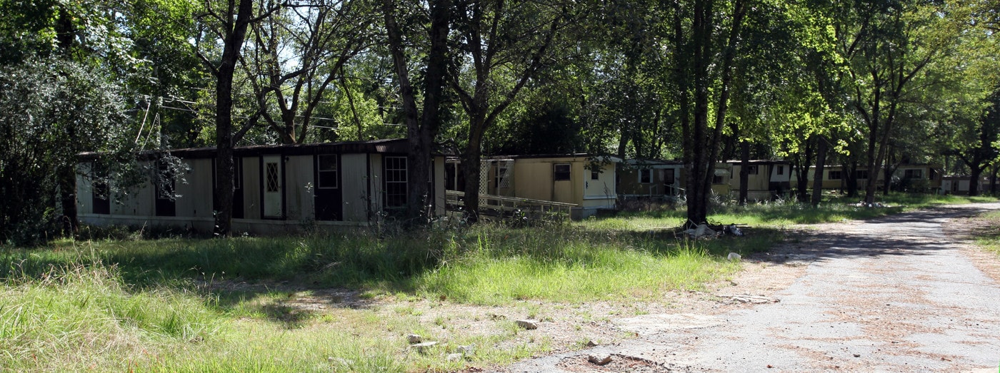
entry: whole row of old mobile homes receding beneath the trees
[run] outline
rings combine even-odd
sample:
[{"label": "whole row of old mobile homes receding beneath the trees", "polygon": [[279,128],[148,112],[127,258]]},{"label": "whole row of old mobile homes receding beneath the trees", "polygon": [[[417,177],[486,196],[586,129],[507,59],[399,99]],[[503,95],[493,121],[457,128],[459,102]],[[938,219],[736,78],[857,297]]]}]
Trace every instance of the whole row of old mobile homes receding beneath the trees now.
[{"label": "whole row of old mobile homes receding beneath the trees", "polygon": [[[306,226],[366,225],[401,215],[407,204],[405,140],[237,148],[233,227],[249,233],[280,233]],[[142,161],[159,170],[151,153]],[[162,226],[210,232],[214,224],[214,148],[170,151],[182,161],[183,175],[167,182],[155,178],[127,192],[113,194],[98,168],[95,154],[83,154],[78,165],[78,217],[91,224]],[[676,200],[684,195],[680,162],[621,160],[585,154],[491,157],[481,164],[480,210],[554,211],[573,218],[615,209],[627,199]],[[715,167],[713,191],[725,197],[739,191],[740,163]],[[785,161],[751,161],[748,197],[787,197],[799,171]],[[810,187],[814,179],[809,170]],[[869,173],[827,167],[824,189],[846,188],[854,179],[864,187]],[[885,186],[883,173],[878,185]],[[457,158],[435,155],[426,205],[435,216],[457,216],[465,181]],[[980,182],[983,183],[983,182]],[[929,192],[962,192],[969,179],[943,177],[939,165],[900,165],[890,186]]]}]

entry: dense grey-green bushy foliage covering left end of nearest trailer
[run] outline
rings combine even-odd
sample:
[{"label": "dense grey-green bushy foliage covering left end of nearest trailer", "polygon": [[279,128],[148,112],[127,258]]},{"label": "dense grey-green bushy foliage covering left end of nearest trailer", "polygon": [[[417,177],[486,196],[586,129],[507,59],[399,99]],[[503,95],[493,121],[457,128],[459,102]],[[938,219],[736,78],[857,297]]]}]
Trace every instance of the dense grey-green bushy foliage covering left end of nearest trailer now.
[{"label": "dense grey-green bushy foliage covering left end of nearest trailer", "polygon": [[[128,166],[118,90],[96,72],[63,60],[0,67],[0,240],[55,236],[57,177],[85,151]],[[124,159],[124,161],[122,161]],[[121,170],[121,169],[116,169]]]}]

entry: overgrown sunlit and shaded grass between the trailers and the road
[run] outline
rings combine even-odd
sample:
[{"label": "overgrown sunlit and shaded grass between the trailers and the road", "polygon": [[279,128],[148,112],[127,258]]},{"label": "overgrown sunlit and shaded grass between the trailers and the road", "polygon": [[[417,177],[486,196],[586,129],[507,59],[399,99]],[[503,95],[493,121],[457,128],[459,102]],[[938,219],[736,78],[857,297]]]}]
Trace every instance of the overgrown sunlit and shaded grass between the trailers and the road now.
[{"label": "overgrown sunlit and shaded grass between the trailers and the road", "polygon": [[[200,239],[91,228],[91,239],[0,249],[0,367],[171,372],[488,367],[557,348],[544,334],[513,321],[550,317],[538,303],[663,301],[664,293],[728,278],[740,265],[725,255],[768,249],[780,241],[781,225],[963,201],[968,199],[901,196],[884,203],[905,206],[863,208],[834,200],[816,210],[793,203],[727,204],[710,220],[749,224],[749,234],[699,241],[675,237],[684,215],[669,210],[394,234],[357,230]],[[302,304],[301,299],[334,288],[347,289],[353,300],[332,295]],[[415,306],[420,302],[464,311],[428,315]],[[469,311],[510,304],[520,306],[507,315]],[[407,343],[410,333],[441,343],[421,353]],[[461,359],[447,359],[460,350]]]}]

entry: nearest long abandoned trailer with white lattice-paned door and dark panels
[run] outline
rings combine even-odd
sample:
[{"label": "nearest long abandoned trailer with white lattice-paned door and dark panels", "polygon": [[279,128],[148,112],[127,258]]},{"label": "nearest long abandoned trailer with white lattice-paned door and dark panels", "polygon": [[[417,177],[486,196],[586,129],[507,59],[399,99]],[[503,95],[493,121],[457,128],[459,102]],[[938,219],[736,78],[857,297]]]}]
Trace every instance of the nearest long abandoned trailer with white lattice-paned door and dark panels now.
[{"label": "nearest long abandoned trailer with white lattice-paned door and dark panels", "polygon": [[[407,142],[368,142],[236,148],[233,227],[249,233],[280,233],[303,226],[364,225],[405,209]],[[158,226],[211,232],[215,206],[215,148],[172,150],[185,165],[167,183],[150,178],[127,194],[109,195],[95,178],[96,154],[78,165],[81,222]],[[150,170],[164,170],[157,154],[140,156]],[[435,155],[429,204],[445,213],[444,157]],[[114,183],[114,181],[111,181]],[[97,192],[95,192],[97,191]]]}]

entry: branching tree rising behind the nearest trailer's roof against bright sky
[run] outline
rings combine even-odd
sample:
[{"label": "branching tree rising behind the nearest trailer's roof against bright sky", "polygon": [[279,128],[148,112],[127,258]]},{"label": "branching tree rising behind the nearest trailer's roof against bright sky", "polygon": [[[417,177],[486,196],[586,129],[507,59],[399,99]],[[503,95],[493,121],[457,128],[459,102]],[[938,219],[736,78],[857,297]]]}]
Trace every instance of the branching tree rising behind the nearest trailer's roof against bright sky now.
[{"label": "branching tree rising behind the nearest trailer's roof against bright sky", "polygon": [[364,0],[313,1],[286,7],[251,27],[241,65],[255,97],[263,98],[257,100],[261,115],[282,143],[306,141],[327,89],[344,82],[345,65],[375,40],[370,5]]}]

